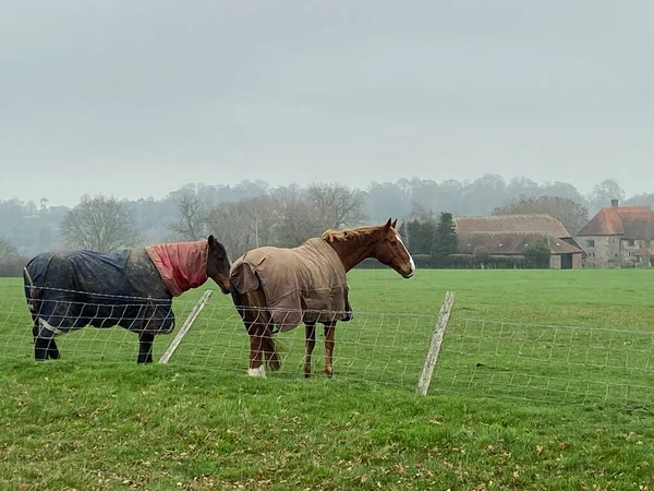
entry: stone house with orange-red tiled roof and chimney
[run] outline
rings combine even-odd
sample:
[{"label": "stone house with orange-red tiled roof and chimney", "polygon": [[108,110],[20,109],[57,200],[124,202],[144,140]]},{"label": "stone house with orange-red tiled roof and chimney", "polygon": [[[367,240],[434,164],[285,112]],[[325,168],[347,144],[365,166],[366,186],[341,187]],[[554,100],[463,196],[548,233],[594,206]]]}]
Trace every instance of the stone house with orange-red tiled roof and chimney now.
[{"label": "stone house with orange-red tiled roof and chimney", "polygon": [[651,267],[654,212],[646,206],[619,206],[611,200],[577,232],[589,266]]}]

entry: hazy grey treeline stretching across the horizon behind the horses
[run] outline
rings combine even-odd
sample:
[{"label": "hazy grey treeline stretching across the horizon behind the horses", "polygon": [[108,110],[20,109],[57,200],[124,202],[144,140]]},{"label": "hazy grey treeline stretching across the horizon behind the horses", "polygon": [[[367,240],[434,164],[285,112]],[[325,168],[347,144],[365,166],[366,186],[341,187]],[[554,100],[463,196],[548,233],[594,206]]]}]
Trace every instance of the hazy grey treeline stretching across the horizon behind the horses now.
[{"label": "hazy grey treeline stretching across the horizon behind the horses", "polygon": [[625,204],[654,205],[654,194],[626,200],[623,190],[610,179],[582,195],[566,182],[538,184],[524,177],[505,181],[496,175],[474,181],[401,179],[373,182],[366,189],[329,182],[278,188],[264,181],[194,183],[161,200],[117,201],[84,195],[74,208],[50,206],[46,197],[38,204],[3,200],[0,237],[10,252],[0,250],[0,264],[20,264],[24,258],[46,250],[111,250],[196,239],[208,232],[219,236],[235,258],[256,246],[294,246],[326,228],[378,224],[388,217],[400,223],[424,223],[443,209],[452,216],[558,214],[557,218],[574,233],[589,216],[615,197]]}]

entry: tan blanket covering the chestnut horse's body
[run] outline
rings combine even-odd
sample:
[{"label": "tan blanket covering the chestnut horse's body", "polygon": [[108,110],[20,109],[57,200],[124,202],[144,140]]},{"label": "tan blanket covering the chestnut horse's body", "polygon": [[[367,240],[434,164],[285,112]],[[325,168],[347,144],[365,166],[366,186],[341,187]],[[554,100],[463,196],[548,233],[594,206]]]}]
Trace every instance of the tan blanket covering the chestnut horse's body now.
[{"label": "tan blanket covering the chestnut horse's body", "polygon": [[254,291],[261,283],[279,331],[302,322],[350,319],[346,270],[323,239],[308,239],[292,249],[254,249],[232,264],[230,278],[239,294]]}]

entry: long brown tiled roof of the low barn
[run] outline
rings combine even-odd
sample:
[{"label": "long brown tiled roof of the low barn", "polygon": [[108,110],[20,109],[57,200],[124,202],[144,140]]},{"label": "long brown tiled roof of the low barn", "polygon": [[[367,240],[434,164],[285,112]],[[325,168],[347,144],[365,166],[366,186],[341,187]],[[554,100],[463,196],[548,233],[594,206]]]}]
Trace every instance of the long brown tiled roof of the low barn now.
[{"label": "long brown tiled roof of the low barn", "polygon": [[498,215],[455,218],[459,232],[541,232],[556,238],[571,237],[566,227],[549,215]]}]

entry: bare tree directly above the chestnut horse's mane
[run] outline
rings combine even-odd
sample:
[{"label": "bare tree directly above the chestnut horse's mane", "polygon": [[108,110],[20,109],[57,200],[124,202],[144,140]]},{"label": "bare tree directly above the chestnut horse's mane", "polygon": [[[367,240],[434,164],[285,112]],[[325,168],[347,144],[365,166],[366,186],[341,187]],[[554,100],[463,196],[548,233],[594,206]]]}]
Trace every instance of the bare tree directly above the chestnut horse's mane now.
[{"label": "bare tree directly above the chestnut horse's mane", "polygon": [[324,228],[354,227],[365,219],[363,192],[338,182],[314,182],[306,195],[325,219]]}]

